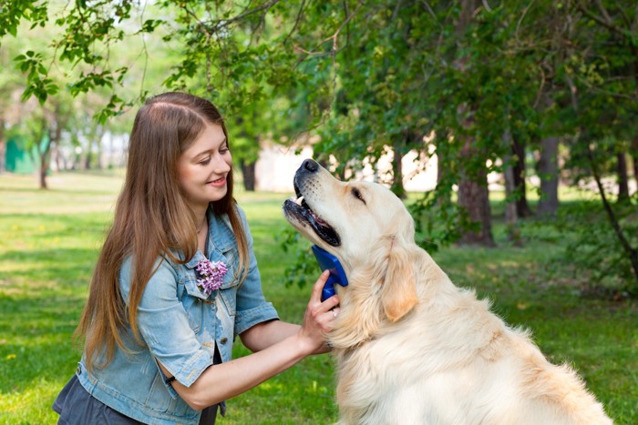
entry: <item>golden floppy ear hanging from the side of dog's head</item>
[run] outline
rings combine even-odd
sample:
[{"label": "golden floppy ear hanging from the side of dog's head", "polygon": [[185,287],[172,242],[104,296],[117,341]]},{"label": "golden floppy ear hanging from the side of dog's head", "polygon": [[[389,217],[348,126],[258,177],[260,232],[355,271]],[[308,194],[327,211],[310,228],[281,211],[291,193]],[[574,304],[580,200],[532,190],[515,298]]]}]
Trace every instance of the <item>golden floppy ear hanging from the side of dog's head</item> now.
[{"label": "golden floppy ear hanging from the side of dog's head", "polygon": [[390,238],[386,255],[381,303],[387,319],[396,322],[417,305],[415,267],[406,244],[396,237]]}]

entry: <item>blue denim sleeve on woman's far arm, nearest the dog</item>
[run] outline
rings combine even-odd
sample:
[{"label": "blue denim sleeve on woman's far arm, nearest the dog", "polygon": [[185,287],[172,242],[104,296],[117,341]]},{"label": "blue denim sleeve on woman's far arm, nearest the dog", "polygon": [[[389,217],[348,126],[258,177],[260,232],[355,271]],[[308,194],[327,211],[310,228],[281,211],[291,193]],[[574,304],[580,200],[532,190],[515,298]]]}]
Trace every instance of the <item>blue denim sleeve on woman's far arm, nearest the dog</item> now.
[{"label": "blue denim sleeve on woman's far arm, nearest the dog", "polygon": [[259,268],[257,267],[257,258],[255,258],[252,249],[252,234],[241,208],[240,216],[248,241],[249,268],[248,275],[237,291],[235,335],[239,335],[244,330],[250,329],[263,321],[279,319],[277,310],[274,309],[273,304],[266,301],[263,296],[262,278],[259,274]]}]

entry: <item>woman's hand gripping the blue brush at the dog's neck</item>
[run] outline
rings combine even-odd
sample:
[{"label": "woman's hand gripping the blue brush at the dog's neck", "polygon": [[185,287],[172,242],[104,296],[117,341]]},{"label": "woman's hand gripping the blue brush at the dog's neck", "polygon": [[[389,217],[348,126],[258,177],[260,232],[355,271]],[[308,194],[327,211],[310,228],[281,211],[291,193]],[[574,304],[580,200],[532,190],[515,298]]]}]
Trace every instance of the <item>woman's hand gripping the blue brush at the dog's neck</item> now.
[{"label": "woman's hand gripping the blue brush at the dog's neck", "polygon": [[304,322],[299,329],[299,338],[306,344],[309,353],[319,354],[330,351],[325,344],[326,334],[333,329],[334,319],[339,314],[339,297],[334,295],[324,302],[321,292],[330,272],[324,273],[314,283],[310,301],[305,309]]}]

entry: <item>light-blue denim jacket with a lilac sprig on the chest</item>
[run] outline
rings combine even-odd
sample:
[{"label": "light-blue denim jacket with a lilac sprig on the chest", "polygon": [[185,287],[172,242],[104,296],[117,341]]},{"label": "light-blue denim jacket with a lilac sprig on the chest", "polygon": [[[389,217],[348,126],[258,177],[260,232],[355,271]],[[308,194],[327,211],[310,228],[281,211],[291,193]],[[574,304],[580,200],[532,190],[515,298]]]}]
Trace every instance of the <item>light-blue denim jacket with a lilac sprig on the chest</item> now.
[{"label": "light-blue denim jacket with a lilac sprig on the chest", "polygon": [[[78,379],[93,397],[145,423],[199,422],[201,411],[191,409],[165,382],[157,361],[189,387],[212,365],[215,346],[221,360],[229,361],[237,335],[263,321],[278,319],[273,305],[263,297],[252,236],[242,209],[239,211],[250,259],[242,285],[238,285],[239,253],[228,217],[215,216],[209,209],[208,257],[226,264],[223,285],[208,297],[197,287],[195,267],[204,258],[199,250],[183,265],[160,258],[139,301],[138,328],[145,345],[125,338],[132,354],[117,348],[106,367],[91,372],[84,359],[79,363]],[[127,258],[119,271],[119,289],[127,301],[130,268],[131,258]]]}]

